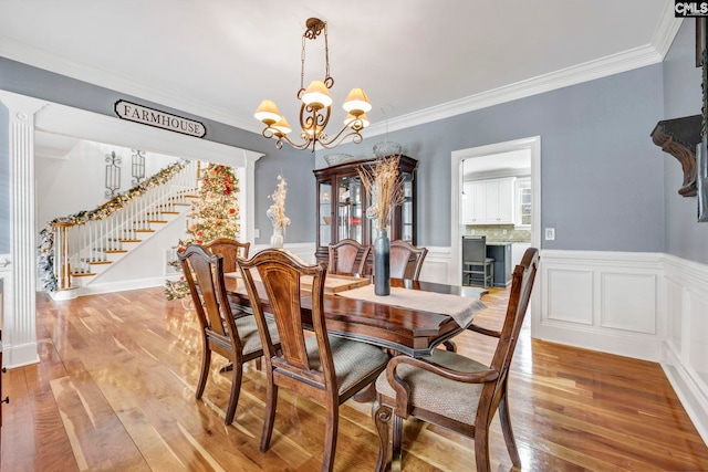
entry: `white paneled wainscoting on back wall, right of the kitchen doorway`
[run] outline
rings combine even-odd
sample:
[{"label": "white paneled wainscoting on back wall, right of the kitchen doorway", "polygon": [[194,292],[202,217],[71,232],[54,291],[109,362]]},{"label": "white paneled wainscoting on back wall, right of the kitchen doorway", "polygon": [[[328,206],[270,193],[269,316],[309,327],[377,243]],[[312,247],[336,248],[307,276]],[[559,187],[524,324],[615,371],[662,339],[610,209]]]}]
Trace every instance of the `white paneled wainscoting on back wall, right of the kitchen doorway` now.
[{"label": "white paneled wainscoting on back wall, right of the kitchen doorway", "polygon": [[663,254],[550,251],[537,281],[531,335],[659,361],[666,333]]}]

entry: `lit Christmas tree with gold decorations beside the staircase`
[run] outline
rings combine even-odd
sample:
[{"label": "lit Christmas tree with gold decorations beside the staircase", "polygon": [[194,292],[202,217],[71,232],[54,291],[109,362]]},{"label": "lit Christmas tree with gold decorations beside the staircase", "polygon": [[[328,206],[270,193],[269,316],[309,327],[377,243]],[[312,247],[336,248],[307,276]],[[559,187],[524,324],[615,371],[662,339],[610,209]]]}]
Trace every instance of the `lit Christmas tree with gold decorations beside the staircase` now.
[{"label": "lit Christmas tree with gold decorations beside the staircase", "polygon": [[[188,244],[207,244],[219,238],[238,239],[240,225],[238,179],[230,167],[210,164],[202,174],[199,198],[191,204],[187,216],[187,235],[179,241],[179,249]],[[171,262],[178,266],[179,261]],[[189,286],[181,276],[165,284],[167,300],[184,298],[189,295]]]}]

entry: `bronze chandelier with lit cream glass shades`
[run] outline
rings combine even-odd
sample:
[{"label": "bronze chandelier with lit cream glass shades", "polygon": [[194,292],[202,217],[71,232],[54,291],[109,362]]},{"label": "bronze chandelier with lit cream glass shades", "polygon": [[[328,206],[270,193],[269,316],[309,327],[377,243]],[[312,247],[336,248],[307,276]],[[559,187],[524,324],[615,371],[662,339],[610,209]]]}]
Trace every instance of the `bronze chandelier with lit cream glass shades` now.
[{"label": "bronze chandelier with lit cream glass shades", "polygon": [[[293,143],[288,137],[292,132],[290,124],[283,115],[278,111],[275,103],[264,99],[256,109],[257,119],[261,120],[266,128],[263,137],[275,138],[275,147],[281,149],[283,141],[288,143],[295,149],[315,149],[315,145],[332,149],[341,144],[344,139],[352,137],[354,143],[361,143],[363,137],[361,130],[368,126],[368,117],[366,112],[372,109],[366,93],[362,88],[352,88],[342,107],[347,112],[344,118],[344,127],[330,139],[325,133],[330,114],[332,112],[332,96],[330,88],[334,85],[334,78],[330,75],[330,50],[327,48],[327,23],[319,18],[310,18],[305,23],[306,30],[302,35],[302,65],[300,69],[300,90],[298,91],[298,99],[302,102],[300,105],[300,127],[302,133],[300,137],[302,143]],[[324,31],[324,62],[326,65],[324,81],[312,81],[308,88],[304,87],[304,69],[305,69],[305,41],[316,40],[320,33]]]}]

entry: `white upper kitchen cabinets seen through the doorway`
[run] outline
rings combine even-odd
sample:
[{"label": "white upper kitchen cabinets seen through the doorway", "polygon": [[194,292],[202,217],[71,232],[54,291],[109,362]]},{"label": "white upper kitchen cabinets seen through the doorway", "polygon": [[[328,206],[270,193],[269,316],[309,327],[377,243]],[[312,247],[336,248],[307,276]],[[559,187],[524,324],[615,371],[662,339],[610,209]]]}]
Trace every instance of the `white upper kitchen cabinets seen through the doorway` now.
[{"label": "white upper kitchen cabinets seen through the doorway", "polygon": [[462,185],[462,224],[513,224],[514,177]]}]

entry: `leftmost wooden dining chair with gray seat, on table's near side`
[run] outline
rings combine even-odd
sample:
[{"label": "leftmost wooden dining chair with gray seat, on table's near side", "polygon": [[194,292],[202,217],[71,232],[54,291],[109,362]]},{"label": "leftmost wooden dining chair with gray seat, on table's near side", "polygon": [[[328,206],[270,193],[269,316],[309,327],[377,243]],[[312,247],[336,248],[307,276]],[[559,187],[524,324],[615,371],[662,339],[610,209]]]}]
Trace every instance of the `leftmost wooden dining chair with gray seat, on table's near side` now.
[{"label": "leftmost wooden dining chair with gray seat, on table's near side", "polygon": [[[233,375],[225,418],[225,423],[230,424],[239,401],[243,364],[263,355],[258,323],[253,316],[233,316],[223,281],[223,258],[207,253],[198,244],[188,245],[184,251],[177,252],[177,256],[189,285],[201,331],[201,371],[195,397],[200,399],[204,394],[211,366],[211,353],[230,360]],[[275,326],[272,322],[268,325],[273,329],[271,343],[277,348],[280,339]]]}]

